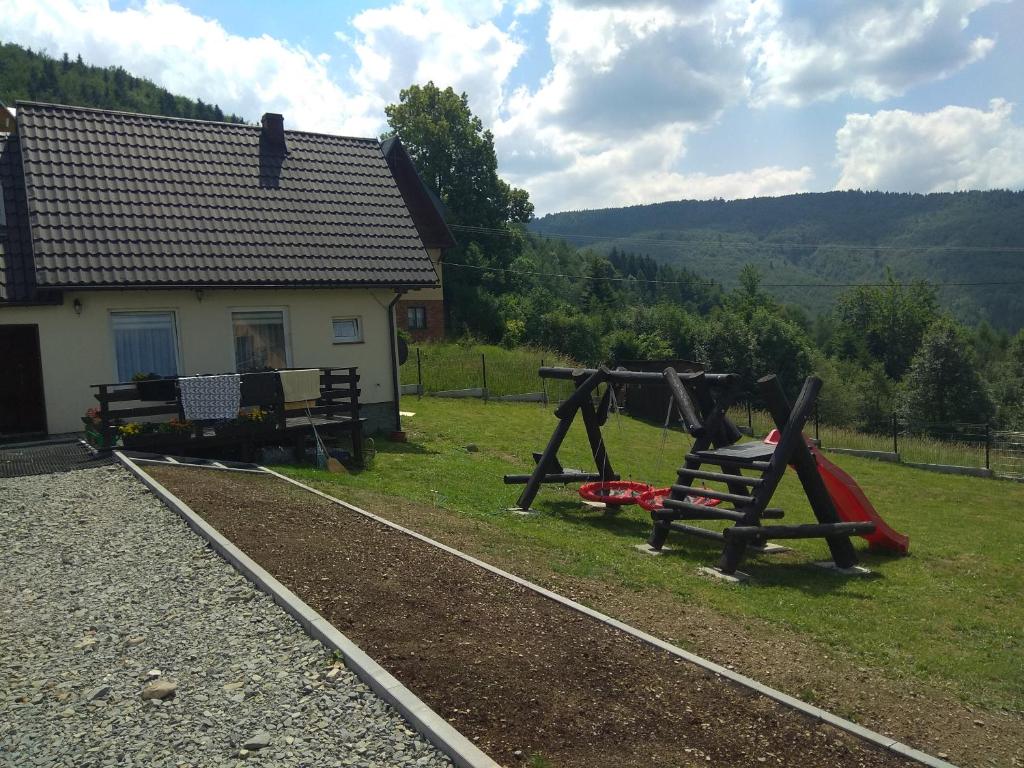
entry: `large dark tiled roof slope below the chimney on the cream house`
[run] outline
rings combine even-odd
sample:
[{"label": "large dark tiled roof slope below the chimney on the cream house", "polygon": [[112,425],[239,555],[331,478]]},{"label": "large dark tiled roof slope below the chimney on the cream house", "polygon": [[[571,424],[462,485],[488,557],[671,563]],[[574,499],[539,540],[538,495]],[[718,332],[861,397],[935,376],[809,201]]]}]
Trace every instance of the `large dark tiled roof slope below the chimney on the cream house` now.
[{"label": "large dark tiled roof slope below the chimney on the cream house", "polygon": [[40,286],[434,285],[376,139],[19,102]]}]

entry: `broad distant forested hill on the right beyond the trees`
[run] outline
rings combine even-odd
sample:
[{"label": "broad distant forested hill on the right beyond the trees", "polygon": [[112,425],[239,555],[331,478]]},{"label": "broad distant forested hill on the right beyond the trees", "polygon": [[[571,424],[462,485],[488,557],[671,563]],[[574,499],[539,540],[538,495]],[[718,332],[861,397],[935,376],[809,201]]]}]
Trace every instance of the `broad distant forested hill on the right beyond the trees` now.
[{"label": "broad distant forested hill on the right beyond the trees", "polygon": [[812,312],[843,290],[820,284],[884,281],[887,269],[899,281],[989,284],[944,285],[939,295],[965,322],[1024,327],[1024,191],[681,201],[549,214],[530,226],[602,252],[646,253],[726,287],[750,262],[766,290]]}]

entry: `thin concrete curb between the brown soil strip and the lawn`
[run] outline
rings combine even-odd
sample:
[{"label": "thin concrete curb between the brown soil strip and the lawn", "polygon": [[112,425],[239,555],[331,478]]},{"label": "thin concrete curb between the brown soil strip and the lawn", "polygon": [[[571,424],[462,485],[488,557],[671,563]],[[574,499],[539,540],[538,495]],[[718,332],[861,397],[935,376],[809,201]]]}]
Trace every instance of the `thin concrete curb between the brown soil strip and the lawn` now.
[{"label": "thin concrete curb between the brown soil strip and the lawn", "polygon": [[272,469],[266,467],[264,467],[264,469],[266,469],[268,474],[279,477],[282,480],[291,483],[292,485],[296,485],[300,488],[308,490],[310,494],[314,494],[323,499],[326,499],[330,502],[333,502],[334,504],[337,504],[340,507],[344,507],[345,509],[351,512],[355,512],[356,514],[362,515],[364,517],[379,522],[382,525],[387,525],[389,528],[393,528],[394,530],[404,534],[406,536],[410,536],[413,539],[423,542],[424,544],[429,544],[430,546],[443,550],[444,552],[447,552],[451,555],[460,557],[463,560],[466,560],[467,562],[471,562],[474,565],[483,568],[484,570],[488,570],[492,573],[495,573],[496,575],[499,575],[503,579],[507,579],[511,582],[515,582],[516,584],[525,587],[526,589],[531,590],[532,592],[536,592],[539,595],[543,595],[544,597],[550,600],[554,600],[555,602],[560,603],[568,608],[571,608],[572,610],[585,613],[588,616],[591,616],[592,618],[596,618],[602,624],[621,630],[622,632],[625,632],[626,634],[631,635],[637,638],[638,640],[642,640],[648,645],[652,645],[655,648],[668,651],[669,653],[679,656],[680,658],[683,658],[687,662],[690,662],[691,664],[694,664],[697,667],[707,670],[708,672],[714,673],[715,675],[723,677],[729,680],[730,682],[733,682],[744,688],[748,688],[764,696],[767,696],[768,698],[774,699],[775,701],[785,705],[791,709],[797,710],[798,712],[801,712],[804,715],[807,715],[808,717],[814,720],[820,720],[823,723],[827,723],[828,725],[839,728],[840,730],[846,731],[847,733],[857,736],[865,741],[868,741],[869,743],[872,743],[876,746],[881,746],[882,749],[888,750],[889,752],[900,755],[901,757],[908,758],[923,765],[931,766],[931,768],[956,768],[956,766],[954,766],[952,763],[928,755],[924,752],[921,752],[920,750],[915,750],[912,746],[897,741],[896,739],[891,738],[890,736],[884,736],[881,733],[872,731],[868,728],[864,728],[861,725],[857,725],[856,723],[850,720],[846,720],[844,718],[838,717],[837,715],[833,715],[830,712],[826,712],[825,710],[822,710],[818,707],[814,707],[813,705],[801,701],[799,698],[795,698],[794,696],[791,696],[787,693],[783,693],[782,691],[775,690],[774,688],[770,688],[767,685],[763,685],[762,683],[759,683],[757,680],[754,680],[753,678],[749,678],[745,675],[740,675],[738,672],[733,672],[732,670],[728,670],[725,667],[717,665],[714,662],[711,662],[707,658],[703,658],[702,656],[698,656],[695,653],[690,653],[689,651],[683,650],[682,648],[672,645],[671,643],[667,643],[664,640],[659,640],[653,635],[648,635],[646,632],[643,632],[642,630],[638,630],[635,627],[631,627],[628,624],[624,624],[623,622],[620,622],[616,618],[612,618],[611,616],[596,611],[593,608],[588,608],[586,605],[581,605],[580,603],[573,600],[569,600],[567,597],[562,597],[556,592],[551,592],[550,590],[547,590],[544,587],[534,584],[532,582],[527,582],[525,579],[520,579],[519,577],[513,573],[504,571],[501,568],[490,565],[489,563],[483,562],[482,560],[477,560],[472,555],[467,555],[466,553],[460,552],[459,550],[449,547],[445,544],[441,544],[440,542],[435,542],[433,539],[425,537],[422,534],[418,534],[415,530],[398,525],[397,523],[391,522],[390,520],[386,520],[383,517],[379,517],[378,515],[375,515],[373,512],[368,512],[365,509],[360,509],[359,507],[356,507],[353,504],[349,504],[348,502],[343,502],[341,499],[336,499],[335,497],[325,494],[322,490],[317,490],[314,487],[310,487],[309,485],[306,485],[303,482],[299,482],[298,480],[293,480],[291,477],[283,475],[280,472],[274,472]]}]

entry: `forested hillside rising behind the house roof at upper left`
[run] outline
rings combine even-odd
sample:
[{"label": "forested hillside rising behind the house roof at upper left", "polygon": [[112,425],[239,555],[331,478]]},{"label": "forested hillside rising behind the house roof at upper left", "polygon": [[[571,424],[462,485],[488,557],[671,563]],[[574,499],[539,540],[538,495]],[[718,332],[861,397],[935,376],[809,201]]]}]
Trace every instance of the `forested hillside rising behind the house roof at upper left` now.
[{"label": "forested hillside rising behind the house roof at upper left", "polygon": [[81,57],[53,58],[19,45],[0,43],[0,100],[48,101],[172,118],[244,122],[216,104],[176,96],[121,67],[93,67]]}]

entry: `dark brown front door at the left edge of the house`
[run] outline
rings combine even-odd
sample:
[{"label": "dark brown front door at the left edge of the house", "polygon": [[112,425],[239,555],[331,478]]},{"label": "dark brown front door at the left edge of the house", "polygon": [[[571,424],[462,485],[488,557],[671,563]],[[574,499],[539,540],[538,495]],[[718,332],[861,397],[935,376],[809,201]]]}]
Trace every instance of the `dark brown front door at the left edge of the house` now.
[{"label": "dark brown front door at the left edge of the house", "polygon": [[0,437],[45,431],[39,326],[0,326]]}]

